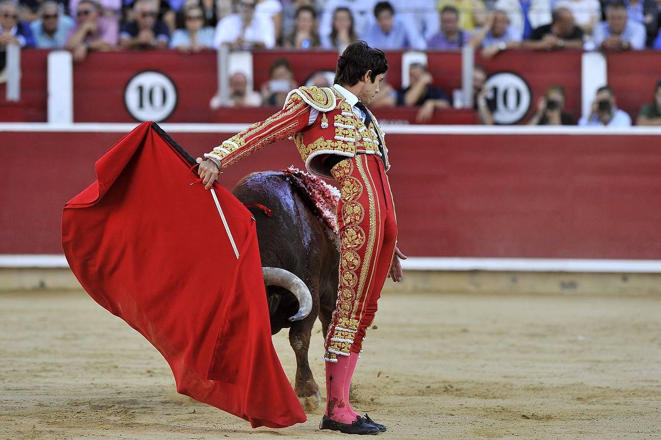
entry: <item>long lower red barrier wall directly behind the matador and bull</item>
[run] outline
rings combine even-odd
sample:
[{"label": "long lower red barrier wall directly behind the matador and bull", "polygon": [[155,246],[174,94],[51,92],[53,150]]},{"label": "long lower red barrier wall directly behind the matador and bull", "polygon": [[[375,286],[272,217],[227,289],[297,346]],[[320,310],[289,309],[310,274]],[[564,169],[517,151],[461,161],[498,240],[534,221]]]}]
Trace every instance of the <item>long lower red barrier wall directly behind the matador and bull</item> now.
[{"label": "long lower red barrier wall directly behind the matador and bull", "polygon": [[[193,156],[227,135],[172,133]],[[61,208],[121,133],[1,133],[0,253],[60,253]],[[661,150],[619,135],[387,136],[414,256],[661,259]],[[221,176],[302,168],[291,141]],[[200,232],[191,232],[199,236]]]}]

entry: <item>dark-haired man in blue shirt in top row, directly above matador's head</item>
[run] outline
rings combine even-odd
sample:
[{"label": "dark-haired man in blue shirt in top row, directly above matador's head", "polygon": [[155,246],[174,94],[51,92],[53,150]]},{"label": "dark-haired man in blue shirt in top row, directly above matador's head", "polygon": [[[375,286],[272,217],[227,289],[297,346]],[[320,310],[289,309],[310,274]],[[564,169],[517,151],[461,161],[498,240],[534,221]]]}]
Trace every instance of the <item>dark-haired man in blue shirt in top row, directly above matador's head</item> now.
[{"label": "dark-haired man in blue shirt in top row, directly above matador's head", "polygon": [[387,1],[380,1],[374,7],[376,22],[369,25],[365,40],[369,46],[381,50],[418,49],[424,50],[427,44],[412,24],[395,16],[395,9]]}]

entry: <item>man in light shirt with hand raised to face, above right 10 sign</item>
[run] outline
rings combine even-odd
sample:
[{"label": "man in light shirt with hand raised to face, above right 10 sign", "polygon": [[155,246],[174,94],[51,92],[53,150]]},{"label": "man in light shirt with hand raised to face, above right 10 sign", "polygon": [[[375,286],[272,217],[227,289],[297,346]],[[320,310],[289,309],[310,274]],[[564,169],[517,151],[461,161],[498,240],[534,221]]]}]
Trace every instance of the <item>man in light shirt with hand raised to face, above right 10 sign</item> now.
[{"label": "man in light shirt with hand raised to face, above right 10 sign", "polygon": [[485,25],[471,36],[471,46],[480,47],[483,58],[489,59],[505,49],[521,47],[521,36],[509,25],[505,11],[496,9],[486,17]]}]

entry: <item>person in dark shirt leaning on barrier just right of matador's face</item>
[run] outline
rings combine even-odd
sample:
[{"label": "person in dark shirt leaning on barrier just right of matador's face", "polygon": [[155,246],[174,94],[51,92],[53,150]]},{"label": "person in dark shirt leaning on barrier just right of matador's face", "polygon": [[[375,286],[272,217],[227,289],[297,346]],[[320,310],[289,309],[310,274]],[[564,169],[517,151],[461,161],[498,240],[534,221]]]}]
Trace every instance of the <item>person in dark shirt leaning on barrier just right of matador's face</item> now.
[{"label": "person in dark shirt leaning on barrier just right of matador's face", "polygon": [[434,78],[427,67],[413,63],[408,67],[410,85],[399,92],[397,104],[400,106],[421,106],[416,121],[427,122],[432,119],[434,109],[449,108],[450,103],[443,90],[432,85]]}]

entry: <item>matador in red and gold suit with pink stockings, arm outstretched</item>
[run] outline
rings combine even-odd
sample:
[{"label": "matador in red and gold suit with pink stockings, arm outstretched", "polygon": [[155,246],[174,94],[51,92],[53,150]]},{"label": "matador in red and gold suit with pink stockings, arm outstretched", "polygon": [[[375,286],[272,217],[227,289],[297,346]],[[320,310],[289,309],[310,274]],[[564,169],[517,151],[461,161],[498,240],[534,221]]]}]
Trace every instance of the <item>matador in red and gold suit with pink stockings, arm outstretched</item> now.
[{"label": "matador in red and gold suit with pink stockings, arm outstretched", "polygon": [[383,424],[349,403],[349,387],[385,278],[401,280],[397,220],[386,172],[385,134],[368,110],[388,63],[365,42],[350,44],[337,62],[334,86],[292,90],[284,108],[204,154],[198,173],[206,189],[222,168],[258,148],[292,137],[309,172],[335,179],[340,270],[336,310],[325,340],[326,412],[320,429],[375,434]]}]

